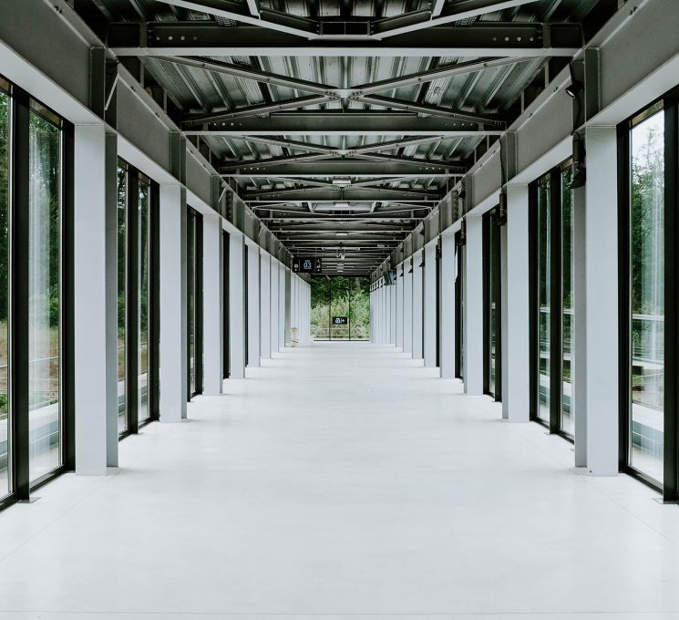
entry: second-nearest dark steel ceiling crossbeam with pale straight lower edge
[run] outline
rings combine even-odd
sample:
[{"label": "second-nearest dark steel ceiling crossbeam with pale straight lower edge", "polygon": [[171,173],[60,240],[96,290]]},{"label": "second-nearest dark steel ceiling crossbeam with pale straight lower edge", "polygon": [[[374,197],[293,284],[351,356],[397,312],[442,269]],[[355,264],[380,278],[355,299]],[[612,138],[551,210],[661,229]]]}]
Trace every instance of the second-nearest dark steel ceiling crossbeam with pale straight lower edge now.
[{"label": "second-nearest dark steel ceiling crossbeam with pale straight lower edge", "polygon": [[478,123],[421,118],[408,112],[360,110],[343,112],[278,112],[270,117],[234,119],[209,123],[208,129],[185,131],[188,136],[499,136],[501,129]]}]

